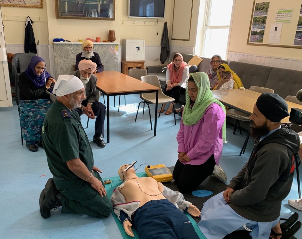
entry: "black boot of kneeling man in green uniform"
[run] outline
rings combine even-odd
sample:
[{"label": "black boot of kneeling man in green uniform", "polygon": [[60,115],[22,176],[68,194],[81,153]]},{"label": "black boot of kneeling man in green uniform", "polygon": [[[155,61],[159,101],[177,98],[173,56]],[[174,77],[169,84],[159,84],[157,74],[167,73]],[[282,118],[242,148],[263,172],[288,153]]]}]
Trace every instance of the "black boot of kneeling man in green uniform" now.
[{"label": "black boot of kneeling man in green uniform", "polygon": [[56,189],[53,179],[48,179],[39,199],[40,214],[42,218],[49,218],[50,210],[57,209],[59,206],[62,206],[61,201],[57,198],[59,193],[60,192]]}]

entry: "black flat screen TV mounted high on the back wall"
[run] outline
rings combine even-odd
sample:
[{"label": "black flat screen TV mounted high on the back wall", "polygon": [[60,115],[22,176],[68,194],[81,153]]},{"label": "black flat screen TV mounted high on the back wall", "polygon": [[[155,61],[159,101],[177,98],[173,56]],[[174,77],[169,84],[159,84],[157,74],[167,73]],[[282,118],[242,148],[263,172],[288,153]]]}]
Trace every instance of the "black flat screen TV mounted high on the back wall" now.
[{"label": "black flat screen TV mounted high on the back wall", "polygon": [[129,18],[165,18],[165,0],[129,0]]}]

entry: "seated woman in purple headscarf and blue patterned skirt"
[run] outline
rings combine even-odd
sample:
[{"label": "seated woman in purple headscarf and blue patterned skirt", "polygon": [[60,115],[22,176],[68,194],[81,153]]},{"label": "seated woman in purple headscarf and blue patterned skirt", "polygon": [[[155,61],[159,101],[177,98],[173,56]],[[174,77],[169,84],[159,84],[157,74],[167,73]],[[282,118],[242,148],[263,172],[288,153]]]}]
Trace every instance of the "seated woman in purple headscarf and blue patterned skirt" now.
[{"label": "seated woman in purple headscarf and blue patterned skirt", "polygon": [[43,58],[33,57],[27,69],[19,76],[20,89],[19,116],[22,136],[26,140],[26,147],[38,151],[42,145],[41,130],[43,120],[52,102],[50,94],[56,80],[45,70]]}]

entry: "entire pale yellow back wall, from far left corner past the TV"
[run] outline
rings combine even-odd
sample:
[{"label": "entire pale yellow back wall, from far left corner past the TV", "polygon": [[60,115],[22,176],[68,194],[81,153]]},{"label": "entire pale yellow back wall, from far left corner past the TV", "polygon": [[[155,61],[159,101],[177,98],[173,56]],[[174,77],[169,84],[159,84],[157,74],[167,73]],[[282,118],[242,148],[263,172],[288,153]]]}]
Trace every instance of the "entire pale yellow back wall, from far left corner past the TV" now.
[{"label": "entire pale yellow back wall, from far left corner past the TV", "polygon": [[[108,31],[114,30],[116,42],[122,39],[145,39],[147,45],[159,45],[165,21],[168,23],[170,33],[172,0],[165,2],[165,19],[158,19],[158,35],[156,35],[157,23],[155,25],[157,19],[128,18],[128,0],[116,0],[115,21],[56,19],[54,0],[43,0],[43,8],[1,7],[5,25],[5,41],[6,44],[24,44],[25,21],[21,21],[20,17],[17,21],[16,17],[29,15],[34,21],[35,40],[36,42],[40,40],[40,44],[48,44],[48,39],[52,44],[53,38],[74,41],[75,38],[85,40],[101,37],[105,40],[108,38]],[[4,19],[4,15],[7,20]],[[45,22],[39,22],[39,17]],[[122,24],[123,21],[124,24]]]}]

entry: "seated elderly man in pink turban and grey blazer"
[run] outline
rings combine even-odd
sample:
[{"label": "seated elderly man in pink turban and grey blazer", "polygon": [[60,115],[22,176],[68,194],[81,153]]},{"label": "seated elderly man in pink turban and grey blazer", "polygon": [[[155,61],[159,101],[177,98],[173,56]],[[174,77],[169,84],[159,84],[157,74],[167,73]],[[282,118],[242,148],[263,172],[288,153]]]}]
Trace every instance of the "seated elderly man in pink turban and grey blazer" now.
[{"label": "seated elderly man in pink turban and grey blazer", "polygon": [[82,105],[76,108],[75,111],[82,115],[85,113],[89,118],[95,119],[95,135],[93,136],[93,142],[98,147],[105,147],[105,142],[101,138],[101,134],[104,134],[104,121],[106,106],[98,102],[96,96],[96,82],[97,77],[92,74],[95,72],[97,65],[91,60],[81,60],[79,62],[79,70],[70,73],[70,75],[78,77],[84,84],[86,99],[82,101]]}]

